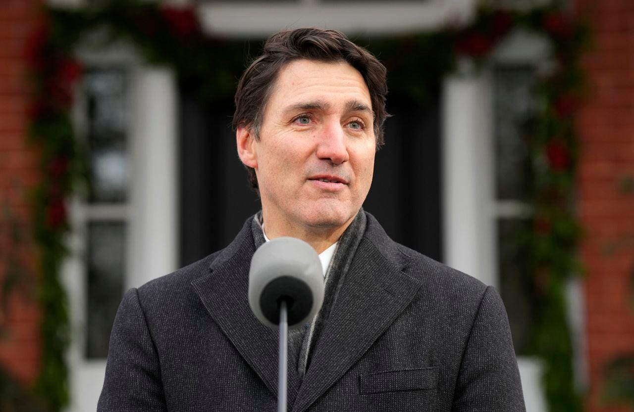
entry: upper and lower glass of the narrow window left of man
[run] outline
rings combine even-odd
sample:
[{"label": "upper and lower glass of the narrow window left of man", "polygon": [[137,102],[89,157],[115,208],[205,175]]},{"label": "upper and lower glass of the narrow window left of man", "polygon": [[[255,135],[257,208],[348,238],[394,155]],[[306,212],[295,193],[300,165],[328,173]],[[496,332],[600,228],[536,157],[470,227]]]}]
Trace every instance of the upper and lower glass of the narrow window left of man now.
[{"label": "upper and lower glass of the narrow window left of man", "polygon": [[86,100],[86,328],[85,356],[106,358],[110,330],[124,291],[129,159],[127,75],[89,70]]}]

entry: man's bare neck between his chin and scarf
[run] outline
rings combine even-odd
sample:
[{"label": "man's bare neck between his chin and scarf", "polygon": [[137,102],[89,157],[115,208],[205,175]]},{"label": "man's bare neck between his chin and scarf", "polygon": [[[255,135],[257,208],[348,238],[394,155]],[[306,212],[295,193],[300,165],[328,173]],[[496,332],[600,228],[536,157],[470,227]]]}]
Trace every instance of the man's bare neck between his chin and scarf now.
[{"label": "man's bare neck between his chin and scarf", "polygon": [[355,216],[352,216],[344,225],[334,228],[283,224],[273,218],[267,218],[266,213],[262,213],[262,220],[264,220],[264,232],[269,239],[282,236],[295,237],[304,240],[319,254],[339,240]]}]

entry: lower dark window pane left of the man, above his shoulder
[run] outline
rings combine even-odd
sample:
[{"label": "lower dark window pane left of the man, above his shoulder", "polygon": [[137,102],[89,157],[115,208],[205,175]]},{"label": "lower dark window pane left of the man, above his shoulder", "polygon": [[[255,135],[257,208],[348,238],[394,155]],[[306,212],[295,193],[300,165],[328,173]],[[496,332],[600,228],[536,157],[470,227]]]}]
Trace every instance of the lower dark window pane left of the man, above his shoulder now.
[{"label": "lower dark window pane left of the man, above his shoulder", "polygon": [[110,330],[123,295],[125,248],[124,223],[89,223],[87,358],[108,356]]}]

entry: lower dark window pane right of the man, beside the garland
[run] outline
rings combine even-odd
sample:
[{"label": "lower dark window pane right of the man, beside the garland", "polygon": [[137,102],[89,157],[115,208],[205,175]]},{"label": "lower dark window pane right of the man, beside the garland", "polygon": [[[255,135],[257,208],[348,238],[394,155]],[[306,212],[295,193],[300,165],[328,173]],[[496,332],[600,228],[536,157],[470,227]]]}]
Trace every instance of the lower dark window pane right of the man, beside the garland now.
[{"label": "lower dark window pane right of the man, beside the garland", "polygon": [[498,220],[498,270],[500,294],[507,308],[513,334],[515,353],[527,354],[529,337],[534,325],[534,286],[527,261],[528,253],[522,245],[521,234],[526,233],[526,220]]}]

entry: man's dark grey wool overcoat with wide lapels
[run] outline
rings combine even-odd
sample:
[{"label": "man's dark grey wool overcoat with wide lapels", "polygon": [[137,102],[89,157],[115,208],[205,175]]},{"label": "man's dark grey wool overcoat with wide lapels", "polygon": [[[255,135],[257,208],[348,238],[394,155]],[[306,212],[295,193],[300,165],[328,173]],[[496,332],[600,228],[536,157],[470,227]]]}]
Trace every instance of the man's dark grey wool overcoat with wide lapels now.
[{"label": "man's dark grey wool overcoat with wide lapels", "polygon": [[[524,411],[496,290],[366,217],[288,411]],[[126,293],[99,412],[275,411],[278,333],[247,302],[251,221],[225,249]]]}]

